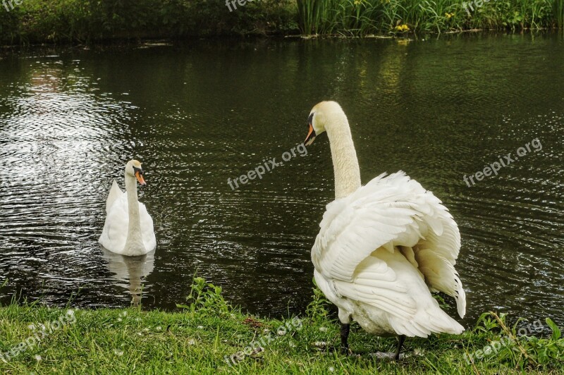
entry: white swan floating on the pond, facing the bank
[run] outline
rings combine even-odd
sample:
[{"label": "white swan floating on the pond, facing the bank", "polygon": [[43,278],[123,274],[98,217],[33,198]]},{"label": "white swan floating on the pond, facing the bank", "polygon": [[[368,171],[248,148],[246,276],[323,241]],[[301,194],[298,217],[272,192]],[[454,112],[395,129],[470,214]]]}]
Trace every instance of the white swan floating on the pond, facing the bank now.
[{"label": "white swan floating on the pond, facing the bank", "polygon": [[157,247],[153,219],[145,204],[137,200],[137,181],[147,185],[141,163],[131,160],[125,166],[125,192],[114,180],[106,200],[106,223],[98,242],[111,252],[129,257],[147,254]]}]

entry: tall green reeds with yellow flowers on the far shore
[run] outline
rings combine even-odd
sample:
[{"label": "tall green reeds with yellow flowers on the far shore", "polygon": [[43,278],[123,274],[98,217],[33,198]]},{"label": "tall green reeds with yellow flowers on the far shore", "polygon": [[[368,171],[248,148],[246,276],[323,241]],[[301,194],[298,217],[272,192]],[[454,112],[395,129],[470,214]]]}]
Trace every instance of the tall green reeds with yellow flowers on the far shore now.
[{"label": "tall green reeds with yellow flowers on the far shore", "polygon": [[[476,6],[474,0],[298,0],[300,30],[307,35],[362,36],[564,25],[564,0],[477,1],[482,6]],[[463,7],[463,2],[473,5]],[[399,28],[401,25],[408,29]]]}]

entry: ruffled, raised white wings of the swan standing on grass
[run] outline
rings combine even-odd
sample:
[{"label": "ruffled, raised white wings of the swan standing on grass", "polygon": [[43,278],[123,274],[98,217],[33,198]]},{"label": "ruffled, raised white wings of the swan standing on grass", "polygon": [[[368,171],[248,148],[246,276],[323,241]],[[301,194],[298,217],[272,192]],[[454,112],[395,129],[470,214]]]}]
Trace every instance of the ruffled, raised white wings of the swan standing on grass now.
[{"label": "ruffled, raised white wings of the swan standing on grass", "polygon": [[[429,288],[455,297],[458,313],[464,316],[464,290],[454,269],[460,250],[458,227],[441,201],[405,173],[387,177],[384,173],[352,195],[331,202],[320,227],[312,261],[327,280],[354,283],[358,296],[362,297],[359,290],[364,290],[367,300],[384,299],[391,309],[403,301],[398,299],[401,292],[388,293],[390,288],[371,285],[389,277],[390,270],[384,269],[384,264],[379,266],[381,274],[365,279],[360,277],[359,266],[379,247],[393,253],[393,247],[399,246],[405,257],[419,266]],[[393,285],[405,288],[398,281]],[[409,308],[409,303],[402,303]]]}]

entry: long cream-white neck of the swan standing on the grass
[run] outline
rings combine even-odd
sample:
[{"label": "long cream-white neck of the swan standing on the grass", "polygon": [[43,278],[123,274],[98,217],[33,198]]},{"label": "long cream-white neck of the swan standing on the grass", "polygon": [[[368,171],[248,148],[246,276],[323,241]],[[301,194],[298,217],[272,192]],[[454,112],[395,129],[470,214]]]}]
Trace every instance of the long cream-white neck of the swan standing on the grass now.
[{"label": "long cream-white neck of the swan standing on the grass", "polygon": [[325,130],[331,143],[335,199],[347,197],[360,187],[360,167],[345,113],[341,110],[327,116]]}]

